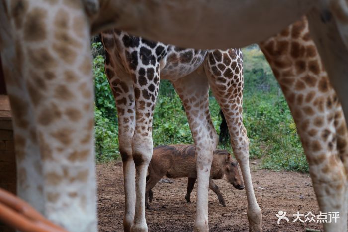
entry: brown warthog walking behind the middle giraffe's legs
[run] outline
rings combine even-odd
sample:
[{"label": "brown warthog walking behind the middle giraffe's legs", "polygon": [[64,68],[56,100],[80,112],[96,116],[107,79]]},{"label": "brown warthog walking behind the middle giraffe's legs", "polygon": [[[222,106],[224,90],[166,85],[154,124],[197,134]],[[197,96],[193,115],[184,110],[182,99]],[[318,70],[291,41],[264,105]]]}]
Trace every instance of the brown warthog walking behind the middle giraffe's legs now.
[{"label": "brown warthog walking behind the middle giraffe's legs", "polygon": [[[190,195],[197,178],[194,145],[162,145],[154,148],[148,172],[145,197],[147,208],[149,208],[149,201],[152,202],[153,198],[151,189],[155,187],[164,175],[169,178],[188,177],[185,199],[187,202],[191,202]],[[213,179],[222,179],[224,175],[226,175],[227,181],[235,188],[244,189],[237,161],[231,158],[231,154],[228,151],[216,150],[214,151],[210,170],[209,188],[216,193],[219,202],[226,206],[219,187],[213,181]]]}]

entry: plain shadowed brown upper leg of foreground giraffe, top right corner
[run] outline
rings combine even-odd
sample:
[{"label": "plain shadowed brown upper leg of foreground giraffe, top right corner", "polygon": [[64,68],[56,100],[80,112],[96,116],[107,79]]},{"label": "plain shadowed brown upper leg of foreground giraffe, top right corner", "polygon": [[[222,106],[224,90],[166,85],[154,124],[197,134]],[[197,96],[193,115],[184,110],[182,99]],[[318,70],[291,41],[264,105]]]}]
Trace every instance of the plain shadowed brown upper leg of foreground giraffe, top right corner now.
[{"label": "plain shadowed brown upper leg of foreground giraffe, top right corner", "polygon": [[[323,1],[325,2],[325,1]],[[331,9],[330,9],[331,8]],[[342,8],[342,9],[341,9]],[[330,11],[333,10],[334,15]],[[311,35],[317,45],[325,68],[329,74],[330,84],[334,87],[337,97],[340,99],[346,121],[348,120],[348,47],[347,29],[342,18],[337,14],[341,10],[347,10],[347,3],[337,1],[330,6],[320,5],[308,13],[308,23]],[[323,16],[323,12],[330,15]],[[332,36],[326,36],[326,35]]]}]

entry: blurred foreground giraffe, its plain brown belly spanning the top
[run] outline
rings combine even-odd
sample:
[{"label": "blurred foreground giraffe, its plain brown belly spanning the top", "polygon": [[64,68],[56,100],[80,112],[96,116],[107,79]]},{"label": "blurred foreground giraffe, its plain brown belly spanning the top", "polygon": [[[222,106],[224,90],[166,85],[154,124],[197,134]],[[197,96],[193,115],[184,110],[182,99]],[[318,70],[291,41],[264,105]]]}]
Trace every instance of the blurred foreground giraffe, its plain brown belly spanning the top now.
[{"label": "blurred foreground giraffe, its plain brown belly spanning the top", "polygon": [[[92,127],[85,128],[88,121],[91,122],[93,118],[92,110],[87,106],[92,104],[92,97],[88,95],[93,96],[90,67],[87,68],[87,63],[90,66],[90,58],[87,58],[87,53],[90,52],[87,41],[90,31],[98,32],[105,28],[116,27],[131,34],[182,47],[214,48],[217,44],[220,48],[242,47],[266,39],[307,14],[313,40],[316,42],[328,71],[330,83],[337,91],[347,119],[348,101],[345,98],[347,92],[345,74],[348,69],[347,5],[343,0],[267,0],[267,2],[220,0],[219,2],[189,1],[185,4],[180,1],[100,0],[99,11],[96,15],[92,15],[93,17],[88,16],[88,10],[85,11],[82,2],[7,0],[1,1],[0,4],[0,49],[1,56],[5,58],[2,62],[6,67],[5,79],[7,89],[10,89],[9,96],[14,117],[18,174],[20,174],[18,189],[21,189],[21,196],[28,199],[35,208],[69,230],[96,230],[95,173],[81,172],[75,177],[87,176],[87,179],[79,179],[73,178],[72,176],[78,173],[71,171],[74,165],[81,170],[82,168],[93,170],[94,167],[91,152]],[[63,17],[55,21],[54,17],[58,12],[62,13],[60,15]],[[183,18],[185,20],[182,20]],[[238,23],[235,23],[237,21]],[[61,32],[66,33],[54,33],[54,30],[59,28]],[[72,42],[74,46],[62,49],[61,43],[67,41],[77,41],[77,43]],[[80,55],[78,57],[77,52]],[[89,59],[84,68],[81,65],[83,56],[86,57],[86,61]],[[40,68],[34,70],[36,72],[31,72],[32,67]],[[38,78],[40,76],[45,78]],[[78,81],[80,88],[77,88]],[[34,87],[40,86],[46,91],[39,91],[40,89],[36,91],[30,82],[37,83]],[[69,108],[74,110],[67,111],[67,100],[54,94],[58,86],[63,86],[63,89],[66,87],[74,93],[69,101],[71,104]],[[84,96],[81,96],[82,93]],[[32,97],[35,95],[36,97]],[[60,94],[60,96],[69,98],[71,95]],[[340,115],[340,108],[336,108],[337,115]],[[55,119],[54,125],[38,123],[39,116],[44,115],[44,112],[48,112],[48,116],[41,119]],[[71,123],[70,120],[76,119],[79,120]],[[326,123],[324,122],[325,125]],[[54,134],[52,130],[67,127],[74,133],[73,142],[62,148],[59,147],[61,142],[52,135]],[[80,141],[86,144],[80,146]],[[302,142],[306,144],[306,138],[302,139]],[[74,153],[82,147],[89,151],[87,155]],[[55,163],[51,155],[56,158]],[[73,161],[67,162],[65,157],[70,155]],[[85,155],[87,159],[81,160],[82,157],[86,158]],[[44,157],[46,159],[43,159]],[[62,188],[63,183],[69,187]],[[77,188],[77,191],[67,194],[67,191],[71,190],[70,187]],[[344,188],[347,188],[347,184]],[[63,193],[60,190],[63,190]],[[332,196],[329,200],[335,202],[337,198]],[[85,202],[88,204],[81,204]],[[79,213],[76,214],[77,211]],[[67,219],[65,215],[70,217]],[[83,222],[82,227],[81,224],[77,226],[79,222]]]}]

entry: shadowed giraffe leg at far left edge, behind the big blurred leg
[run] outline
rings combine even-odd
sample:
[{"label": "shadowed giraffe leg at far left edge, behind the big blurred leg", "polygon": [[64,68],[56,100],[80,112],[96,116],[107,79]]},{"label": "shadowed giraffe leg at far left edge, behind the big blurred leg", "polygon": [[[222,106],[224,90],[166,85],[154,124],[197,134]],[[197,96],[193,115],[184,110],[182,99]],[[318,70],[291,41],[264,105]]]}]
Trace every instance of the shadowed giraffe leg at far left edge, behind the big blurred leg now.
[{"label": "shadowed giraffe leg at far left edge, behind the big blurred leg", "polygon": [[[0,4],[0,14],[5,15],[4,5]],[[7,25],[7,17],[0,19]],[[7,22],[6,22],[7,21]],[[7,30],[10,30],[7,27]],[[40,148],[36,136],[34,112],[24,83],[19,72],[19,64],[14,62],[18,57],[11,32],[1,30],[0,39],[5,46],[1,50],[1,61],[6,82],[6,89],[11,104],[11,114],[15,141],[17,166],[17,195],[29,202],[37,211],[44,214],[43,176]],[[18,49],[18,48],[17,48]]]}]

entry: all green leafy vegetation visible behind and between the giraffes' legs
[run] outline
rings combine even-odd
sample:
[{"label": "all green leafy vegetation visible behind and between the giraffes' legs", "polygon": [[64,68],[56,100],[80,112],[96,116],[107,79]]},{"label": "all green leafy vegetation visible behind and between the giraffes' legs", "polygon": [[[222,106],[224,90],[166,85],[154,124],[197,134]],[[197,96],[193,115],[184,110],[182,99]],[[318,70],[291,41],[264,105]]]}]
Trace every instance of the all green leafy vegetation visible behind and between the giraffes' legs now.
[{"label": "all green leafy vegetation visible behind and between the giraffes' legs", "polygon": [[[93,46],[98,48],[101,44],[93,43]],[[252,45],[243,49],[243,56],[243,120],[250,139],[250,157],[261,158],[263,168],[308,172],[289,108],[263,54],[257,45]],[[103,62],[102,56],[95,56],[95,145],[97,160],[101,162],[119,157],[117,114]],[[218,130],[220,107],[212,95],[209,102],[212,120]],[[154,146],[193,143],[180,98],[165,80],[160,83],[153,140]]]}]

